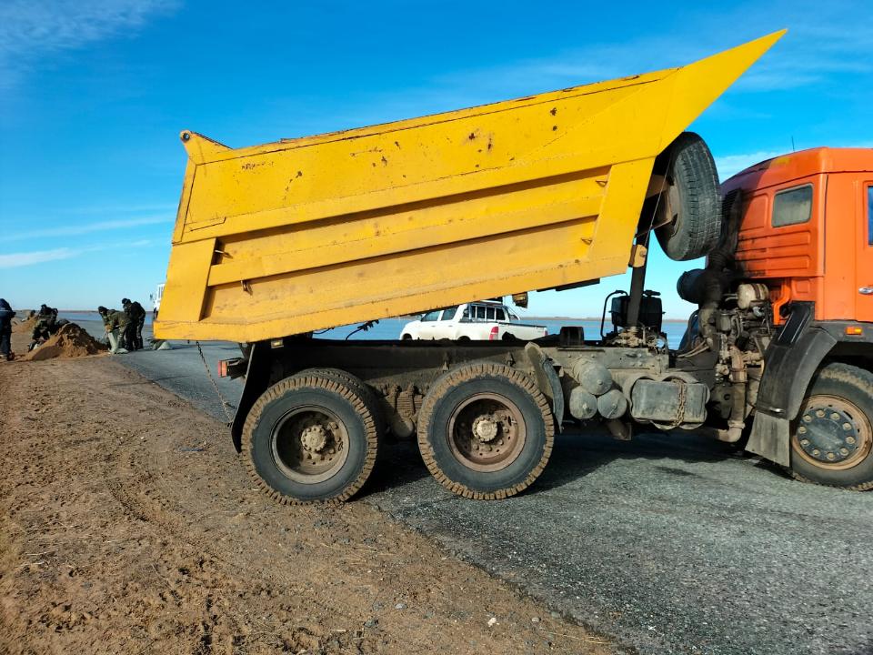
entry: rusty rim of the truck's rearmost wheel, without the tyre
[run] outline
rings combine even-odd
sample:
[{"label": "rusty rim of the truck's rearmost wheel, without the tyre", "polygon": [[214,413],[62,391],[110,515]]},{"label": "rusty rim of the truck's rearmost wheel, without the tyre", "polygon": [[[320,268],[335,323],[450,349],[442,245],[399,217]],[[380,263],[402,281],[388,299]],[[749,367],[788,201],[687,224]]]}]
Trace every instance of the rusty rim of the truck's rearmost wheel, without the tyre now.
[{"label": "rusty rim of the truck's rearmost wheel, without the tyre", "polygon": [[348,431],[331,410],[315,405],[294,408],[276,422],[270,435],[276,468],[303,484],[330,479],[348,459]]}]

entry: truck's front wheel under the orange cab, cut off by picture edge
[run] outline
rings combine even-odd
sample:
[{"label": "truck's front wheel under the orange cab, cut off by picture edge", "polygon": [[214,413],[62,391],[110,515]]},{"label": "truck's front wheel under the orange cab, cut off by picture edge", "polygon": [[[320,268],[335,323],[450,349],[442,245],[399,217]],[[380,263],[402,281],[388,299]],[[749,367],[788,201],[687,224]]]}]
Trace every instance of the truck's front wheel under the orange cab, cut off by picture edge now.
[{"label": "truck's front wheel under the orange cab, cut off by picture edge", "polygon": [[791,473],[805,482],[873,489],[873,373],[821,368],[791,430]]}]

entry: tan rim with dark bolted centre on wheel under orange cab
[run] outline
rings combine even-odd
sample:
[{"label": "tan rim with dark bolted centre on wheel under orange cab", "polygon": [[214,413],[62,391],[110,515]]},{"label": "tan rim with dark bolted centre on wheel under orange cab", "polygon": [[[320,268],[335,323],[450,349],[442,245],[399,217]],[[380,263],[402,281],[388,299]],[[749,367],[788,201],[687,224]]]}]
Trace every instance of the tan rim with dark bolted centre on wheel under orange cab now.
[{"label": "tan rim with dark bolted centre on wheel under orange cab", "polygon": [[870,454],[873,428],[864,412],[845,398],[811,396],[800,408],[791,446],[821,469],[851,469]]}]

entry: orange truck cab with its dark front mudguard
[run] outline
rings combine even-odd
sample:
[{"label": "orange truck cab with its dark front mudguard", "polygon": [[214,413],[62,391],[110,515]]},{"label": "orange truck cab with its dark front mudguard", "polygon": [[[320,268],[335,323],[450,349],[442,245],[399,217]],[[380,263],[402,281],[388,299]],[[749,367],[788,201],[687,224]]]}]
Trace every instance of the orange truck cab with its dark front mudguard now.
[{"label": "orange truck cab with its dark front mudguard", "polygon": [[[778,156],[731,177],[722,192],[726,215],[738,214],[738,275],[766,286],[781,326],[766,353],[747,449],[786,466],[792,453],[827,466],[820,460],[830,453],[804,438],[805,422],[818,419],[804,412],[810,388],[828,365],[873,366],[873,149]],[[818,405],[828,416],[858,411]]]}]

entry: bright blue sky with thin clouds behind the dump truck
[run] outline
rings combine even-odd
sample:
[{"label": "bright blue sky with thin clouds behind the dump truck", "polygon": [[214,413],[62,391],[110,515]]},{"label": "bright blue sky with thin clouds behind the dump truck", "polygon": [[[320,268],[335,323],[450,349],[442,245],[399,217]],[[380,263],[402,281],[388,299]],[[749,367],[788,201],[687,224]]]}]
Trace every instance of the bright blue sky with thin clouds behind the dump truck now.
[{"label": "bright blue sky with thin clouds behind the dump truck", "polygon": [[[866,3],[4,0],[0,297],[117,306],[163,280],[183,128],[228,146],[364,126],[682,65],[788,27],[692,128],[722,178],[811,146],[873,146]],[[689,263],[648,287],[692,307]],[[598,315],[624,277],[532,297]]]}]

